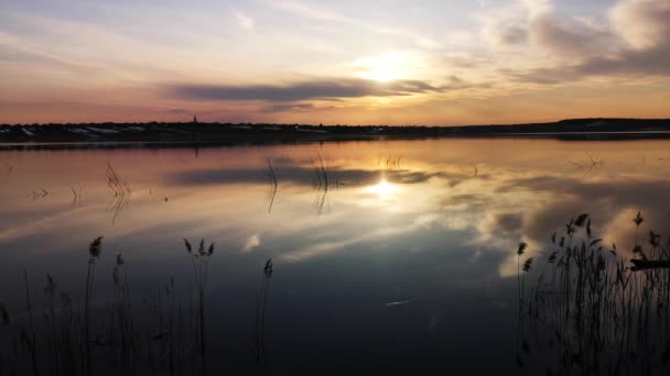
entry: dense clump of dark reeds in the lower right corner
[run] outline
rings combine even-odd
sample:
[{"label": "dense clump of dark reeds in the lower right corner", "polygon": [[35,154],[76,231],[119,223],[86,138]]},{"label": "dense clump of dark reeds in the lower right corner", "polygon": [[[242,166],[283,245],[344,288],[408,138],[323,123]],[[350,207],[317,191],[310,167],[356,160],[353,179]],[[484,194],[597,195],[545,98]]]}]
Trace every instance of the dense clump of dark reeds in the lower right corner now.
[{"label": "dense clump of dark reeds in the lower right corner", "polygon": [[641,213],[631,222],[634,246],[622,252],[594,234],[591,215],[579,215],[559,240],[552,236],[530,291],[520,288],[523,325],[558,347],[553,360],[538,360],[548,373],[670,372],[670,250],[653,231],[639,243]]}]

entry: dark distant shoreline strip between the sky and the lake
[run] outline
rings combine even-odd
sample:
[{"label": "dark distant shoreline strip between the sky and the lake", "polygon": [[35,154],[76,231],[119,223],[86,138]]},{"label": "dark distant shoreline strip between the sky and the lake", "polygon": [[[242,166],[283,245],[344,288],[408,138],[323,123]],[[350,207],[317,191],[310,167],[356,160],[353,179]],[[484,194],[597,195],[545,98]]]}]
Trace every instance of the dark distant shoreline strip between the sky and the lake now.
[{"label": "dark distant shoreline strip between the sky and the lake", "polygon": [[207,147],[239,144],[518,137],[565,141],[668,140],[666,119],[574,119],[552,123],[462,126],[233,123],[85,123],[0,125],[0,148]]}]

